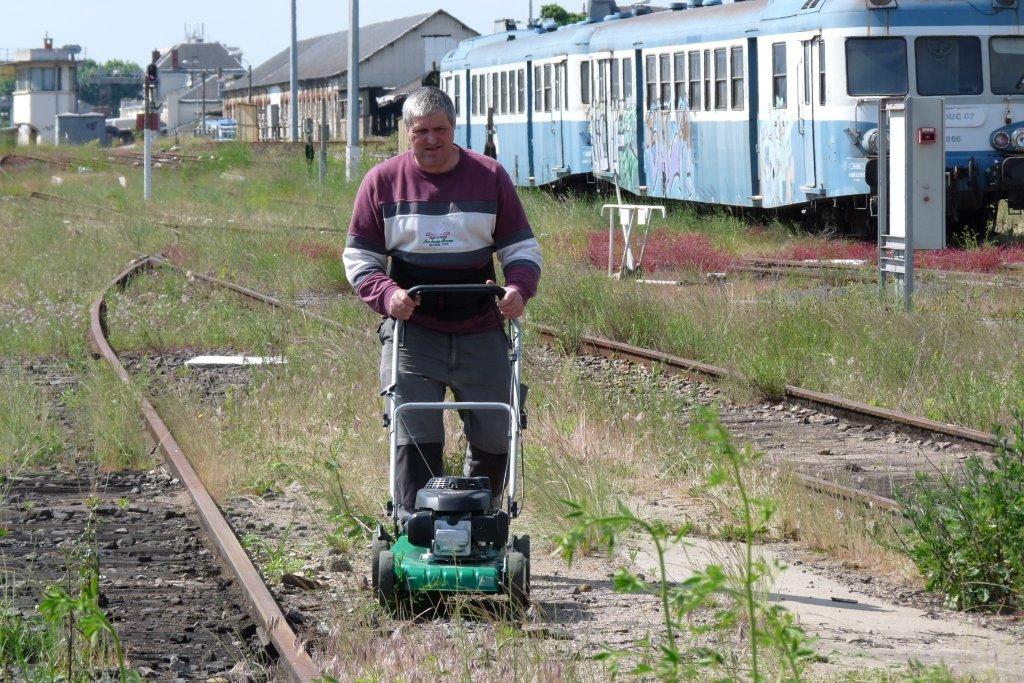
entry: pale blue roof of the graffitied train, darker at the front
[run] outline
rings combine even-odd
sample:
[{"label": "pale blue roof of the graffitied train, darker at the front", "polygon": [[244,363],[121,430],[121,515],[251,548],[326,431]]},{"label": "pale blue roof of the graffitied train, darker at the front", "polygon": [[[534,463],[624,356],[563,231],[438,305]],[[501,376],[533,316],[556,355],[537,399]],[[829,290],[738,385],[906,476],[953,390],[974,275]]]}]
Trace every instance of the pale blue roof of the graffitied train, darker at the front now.
[{"label": "pale blue roof of the graffitied train, darker at the front", "polygon": [[[701,7],[618,15],[556,31],[510,31],[464,41],[443,69],[484,68],[582,52],[727,40],[778,31],[901,26],[1000,26],[1022,34],[1018,9],[994,10],[974,0],[897,0],[895,9],[868,9],[864,0],[705,0]],[[682,3],[679,3],[682,4]],[[623,12],[622,14],[627,14]]]}]

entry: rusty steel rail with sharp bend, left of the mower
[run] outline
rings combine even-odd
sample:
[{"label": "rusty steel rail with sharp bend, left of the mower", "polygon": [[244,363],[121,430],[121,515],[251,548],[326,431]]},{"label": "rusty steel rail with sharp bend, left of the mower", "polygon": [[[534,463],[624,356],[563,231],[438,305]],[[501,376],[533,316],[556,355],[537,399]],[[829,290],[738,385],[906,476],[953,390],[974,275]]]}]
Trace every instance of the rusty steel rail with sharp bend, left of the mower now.
[{"label": "rusty steel rail with sharp bend, left of the mower", "polygon": [[[105,358],[121,380],[128,385],[131,385],[128,371],[125,370],[106,339],[106,296],[114,289],[123,289],[128,281],[138,272],[155,265],[165,264],[166,262],[161,259],[148,256],[132,261],[110,283],[90,306],[89,343],[93,350]],[[224,519],[213,497],[203,485],[203,481],[188,462],[181,446],[178,445],[163,419],[144,396],[139,396],[139,404],[146,429],[156,441],[164,461],[188,489],[188,495],[199,511],[203,527],[219,551],[221,559],[242,587],[249,611],[273,644],[279,655],[278,666],[291,681],[311,681],[318,678],[319,671],[288,624],[281,606],[270,594],[245,549],[242,548],[242,544]]]}]

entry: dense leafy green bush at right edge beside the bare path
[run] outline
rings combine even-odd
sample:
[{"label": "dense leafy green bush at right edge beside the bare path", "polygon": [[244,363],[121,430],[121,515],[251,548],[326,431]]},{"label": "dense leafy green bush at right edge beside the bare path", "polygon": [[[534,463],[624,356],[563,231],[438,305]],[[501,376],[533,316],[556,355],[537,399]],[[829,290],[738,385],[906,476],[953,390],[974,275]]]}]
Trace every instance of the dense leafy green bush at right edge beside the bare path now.
[{"label": "dense leafy green bush at right edge beside the bare path", "polygon": [[903,542],[926,580],[957,609],[1024,609],[1024,409],[990,464],[972,456],[956,477],[922,476],[898,492]]}]

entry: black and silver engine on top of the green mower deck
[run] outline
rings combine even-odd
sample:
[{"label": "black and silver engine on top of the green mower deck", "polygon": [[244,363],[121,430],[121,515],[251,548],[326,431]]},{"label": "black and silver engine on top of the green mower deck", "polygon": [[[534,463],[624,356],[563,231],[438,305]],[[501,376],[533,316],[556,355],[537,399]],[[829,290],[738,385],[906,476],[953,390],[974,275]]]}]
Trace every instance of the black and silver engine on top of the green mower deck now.
[{"label": "black and silver engine on top of the green mower deck", "polygon": [[508,513],[490,503],[487,477],[433,477],[406,520],[409,542],[436,560],[490,557],[509,538]]}]

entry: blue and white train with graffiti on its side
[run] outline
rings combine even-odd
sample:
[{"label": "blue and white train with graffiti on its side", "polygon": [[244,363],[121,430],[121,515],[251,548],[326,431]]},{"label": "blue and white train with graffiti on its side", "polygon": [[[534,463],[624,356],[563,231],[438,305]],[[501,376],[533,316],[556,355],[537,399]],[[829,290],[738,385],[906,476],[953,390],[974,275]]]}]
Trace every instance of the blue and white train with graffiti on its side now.
[{"label": "blue and white train with graffiti on its side", "polygon": [[1017,0],[691,0],[467,40],[441,67],[457,142],[516,183],[594,174],[639,195],[809,208],[868,232],[878,99],[946,103],[949,216],[1024,206]]}]

